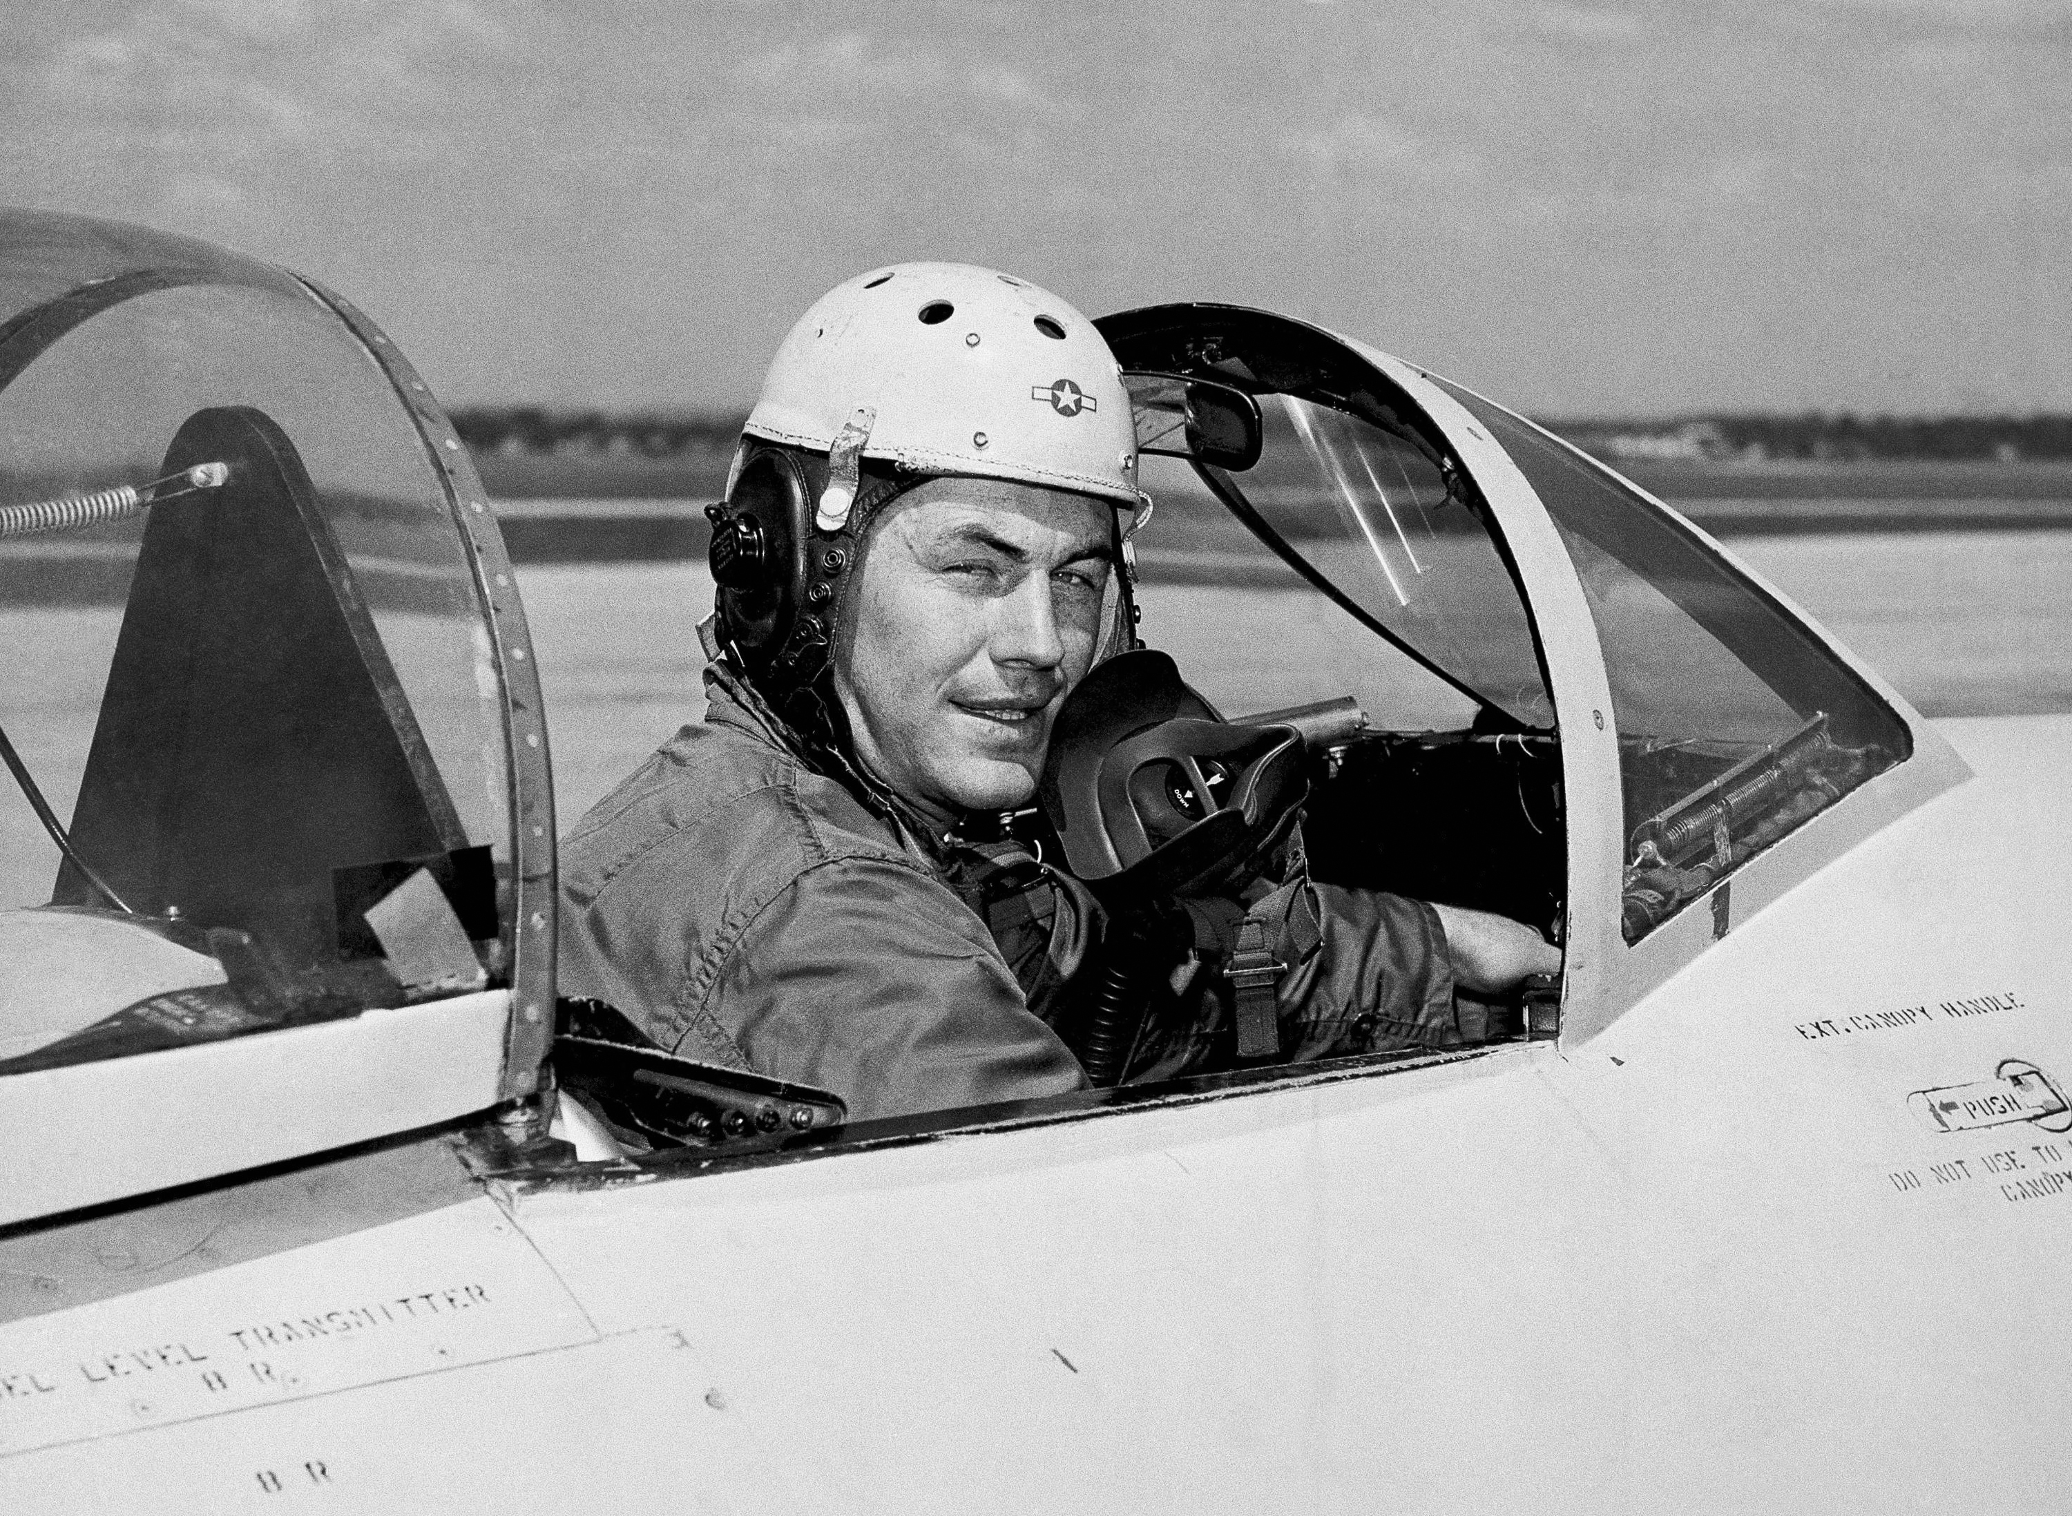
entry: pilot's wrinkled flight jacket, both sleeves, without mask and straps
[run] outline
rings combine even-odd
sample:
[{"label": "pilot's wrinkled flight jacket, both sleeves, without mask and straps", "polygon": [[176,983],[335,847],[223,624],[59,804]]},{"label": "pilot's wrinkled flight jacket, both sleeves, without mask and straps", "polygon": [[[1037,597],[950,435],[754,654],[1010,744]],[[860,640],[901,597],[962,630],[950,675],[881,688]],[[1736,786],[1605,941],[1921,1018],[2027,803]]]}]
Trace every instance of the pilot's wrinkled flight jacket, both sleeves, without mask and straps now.
[{"label": "pilot's wrinkled flight jacket, both sleeves, without mask and straps", "polygon": [[[1051,1025],[1098,915],[1084,886],[866,804],[725,665],[707,692],[704,723],[562,841],[559,992],[680,1056],[831,1089],[852,1120],[1084,1087]],[[1287,1058],[1465,1040],[1430,905],[1307,880],[1276,899]],[[1204,932],[1154,980],[1129,1081],[1233,1062],[1218,967]]]}]

